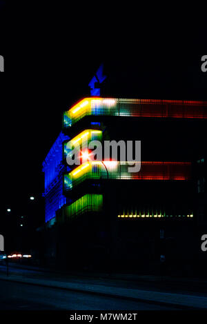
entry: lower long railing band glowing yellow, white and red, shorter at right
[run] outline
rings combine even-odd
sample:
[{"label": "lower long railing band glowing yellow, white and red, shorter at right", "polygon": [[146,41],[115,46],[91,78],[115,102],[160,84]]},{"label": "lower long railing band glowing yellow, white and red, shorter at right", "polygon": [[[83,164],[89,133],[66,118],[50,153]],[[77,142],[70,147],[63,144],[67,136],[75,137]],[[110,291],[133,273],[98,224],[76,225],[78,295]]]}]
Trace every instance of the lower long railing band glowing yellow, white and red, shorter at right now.
[{"label": "lower long railing band glowing yellow, white and red, shorter at right", "polygon": [[[104,163],[104,165],[103,165]],[[64,192],[72,190],[86,179],[119,180],[174,180],[186,181],[191,177],[190,162],[143,161],[139,172],[128,172],[132,165],[120,161],[88,161],[63,176]]]}]

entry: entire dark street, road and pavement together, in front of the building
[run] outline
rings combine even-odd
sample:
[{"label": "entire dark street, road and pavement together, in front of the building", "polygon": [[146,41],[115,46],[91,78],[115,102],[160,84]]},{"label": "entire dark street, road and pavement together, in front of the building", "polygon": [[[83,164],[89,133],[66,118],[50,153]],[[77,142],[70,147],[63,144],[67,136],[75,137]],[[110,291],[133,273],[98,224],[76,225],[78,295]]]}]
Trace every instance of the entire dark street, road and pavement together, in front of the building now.
[{"label": "entire dark street, road and pavement together, in front of the building", "polygon": [[[206,282],[0,265],[0,310],[184,310],[207,307]],[[122,276],[122,278],[120,278]]]}]

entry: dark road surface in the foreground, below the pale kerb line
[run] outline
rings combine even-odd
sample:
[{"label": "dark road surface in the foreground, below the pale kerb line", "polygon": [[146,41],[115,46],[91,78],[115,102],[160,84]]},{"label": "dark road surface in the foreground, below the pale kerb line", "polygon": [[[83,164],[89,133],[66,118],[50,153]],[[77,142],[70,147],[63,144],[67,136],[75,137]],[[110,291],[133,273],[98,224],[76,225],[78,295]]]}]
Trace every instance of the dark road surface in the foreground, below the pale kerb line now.
[{"label": "dark road surface in the foreground, below the pale kerb line", "polygon": [[175,310],[119,298],[0,281],[0,310]]}]

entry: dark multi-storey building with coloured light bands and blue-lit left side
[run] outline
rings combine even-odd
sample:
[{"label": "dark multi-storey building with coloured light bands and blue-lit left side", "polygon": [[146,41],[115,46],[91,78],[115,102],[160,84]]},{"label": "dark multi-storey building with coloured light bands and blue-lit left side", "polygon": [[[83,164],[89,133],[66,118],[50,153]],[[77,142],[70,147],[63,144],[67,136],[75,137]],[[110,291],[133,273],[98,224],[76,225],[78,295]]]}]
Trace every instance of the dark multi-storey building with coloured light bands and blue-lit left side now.
[{"label": "dark multi-storey building with coloured light bands and blue-lit left side", "polygon": [[[206,119],[201,101],[90,97],[64,112],[62,133],[43,164],[57,260],[121,269],[123,260],[126,267],[139,261],[139,269],[149,270],[160,254],[171,263],[184,259],[181,245],[197,235],[196,188],[205,192],[204,171],[198,175],[195,165],[206,156]],[[119,156],[69,167],[68,142],[83,150],[94,140],[141,141],[141,170],[128,172]],[[185,258],[190,262],[190,253]]]}]

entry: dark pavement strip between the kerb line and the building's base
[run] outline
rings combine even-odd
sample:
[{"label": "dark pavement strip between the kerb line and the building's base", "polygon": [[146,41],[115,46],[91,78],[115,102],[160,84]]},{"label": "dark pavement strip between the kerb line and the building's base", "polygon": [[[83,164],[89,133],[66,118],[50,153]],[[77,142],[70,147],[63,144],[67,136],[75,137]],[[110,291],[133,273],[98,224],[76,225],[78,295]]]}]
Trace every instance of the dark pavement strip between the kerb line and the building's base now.
[{"label": "dark pavement strip between the kerb line and the building's base", "polygon": [[[131,301],[176,307],[182,310],[207,310],[207,294],[205,287],[201,292],[166,292],[157,291],[156,287],[150,287],[150,285],[140,288],[139,283],[132,283],[132,281],[128,281],[127,278],[125,278],[124,281],[123,279],[117,278],[117,280],[115,280],[111,277],[110,279],[106,279],[100,276],[89,279],[83,278],[83,276],[66,276],[66,274],[46,273],[40,272],[40,270],[35,271],[34,267],[33,269],[30,267],[30,270],[10,267],[10,275],[6,276],[6,267],[1,266],[0,268],[0,280],[3,281],[39,285],[41,287],[53,287],[61,290],[85,292],[87,294],[96,294],[99,296],[124,298]],[[119,277],[120,275],[117,276]],[[132,279],[132,277],[130,277],[130,279]],[[146,276],[144,276],[143,279],[146,280]],[[155,281],[155,278],[151,276],[148,280],[152,282]],[[141,281],[140,276],[139,281]],[[191,281],[191,283],[192,282],[193,281]],[[207,287],[206,283],[203,283],[203,286],[204,284]]]}]

